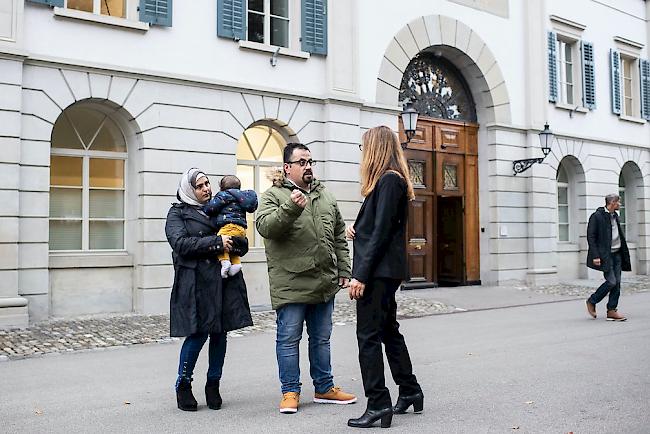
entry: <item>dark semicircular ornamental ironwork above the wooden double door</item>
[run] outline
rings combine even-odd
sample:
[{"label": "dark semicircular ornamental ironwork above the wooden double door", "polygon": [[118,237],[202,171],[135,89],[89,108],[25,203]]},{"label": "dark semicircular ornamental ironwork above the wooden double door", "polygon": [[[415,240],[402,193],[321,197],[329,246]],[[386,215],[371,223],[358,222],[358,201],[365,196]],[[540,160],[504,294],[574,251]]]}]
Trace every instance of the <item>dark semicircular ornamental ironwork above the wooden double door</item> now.
[{"label": "dark semicircular ornamental ironwork above the wooden double door", "polygon": [[400,104],[437,119],[476,122],[474,100],[458,69],[429,52],[415,56],[402,77]]}]

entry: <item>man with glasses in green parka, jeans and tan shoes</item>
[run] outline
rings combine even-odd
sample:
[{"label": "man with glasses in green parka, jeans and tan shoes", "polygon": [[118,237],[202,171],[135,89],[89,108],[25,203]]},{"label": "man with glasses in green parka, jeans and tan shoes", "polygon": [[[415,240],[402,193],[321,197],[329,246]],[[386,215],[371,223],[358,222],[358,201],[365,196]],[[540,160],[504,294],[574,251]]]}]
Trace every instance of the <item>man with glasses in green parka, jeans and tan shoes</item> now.
[{"label": "man with glasses in green parka, jeans and tan shoes", "polygon": [[351,404],[357,400],[334,385],[330,363],[334,296],[350,278],[345,222],[334,196],[314,179],[313,165],[309,148],[288,144],[282,171],[272,175],[273,186],[262,194],[257,214],[277,318],[281,413],[298,411],[303,323],[309,335],[314,402]]}]

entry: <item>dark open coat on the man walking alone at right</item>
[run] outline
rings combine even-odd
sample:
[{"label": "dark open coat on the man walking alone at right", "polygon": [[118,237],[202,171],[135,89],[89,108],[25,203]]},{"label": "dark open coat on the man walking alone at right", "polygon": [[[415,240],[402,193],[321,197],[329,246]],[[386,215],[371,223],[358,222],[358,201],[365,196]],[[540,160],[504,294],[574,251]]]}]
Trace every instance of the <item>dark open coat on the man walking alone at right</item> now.
[{"label": "dark open coat on the man walking alone at right", "polygon": [[[630,262],[630,251],[625,242],[625,234],[621,230],[621,223],[616,214],[616,224],[618,225],[618,233],[621,236],[621,269],[623,271],[632,271],[632,264]],[[612,224],[609,211],[604,207],[598,208],[589,217],[589,224],[587,225],[587,243],[589,243],[589,251],[587,253],[587,267],[607,272],[612,268]],[[594,265],[594,259],[600,258],[600,267]]]}]

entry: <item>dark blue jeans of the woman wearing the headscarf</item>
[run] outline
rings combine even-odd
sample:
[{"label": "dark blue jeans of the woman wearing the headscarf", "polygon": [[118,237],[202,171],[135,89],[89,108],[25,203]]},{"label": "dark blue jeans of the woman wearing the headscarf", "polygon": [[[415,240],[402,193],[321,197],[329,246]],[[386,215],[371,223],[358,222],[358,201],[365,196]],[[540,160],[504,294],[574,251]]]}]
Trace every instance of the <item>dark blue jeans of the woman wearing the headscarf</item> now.
[{"label": "dark blue jeans of the woman wearing the headscarf", "polygon": [[185,338],[181,347],[181,356],[178,363],[178,378],[176,388],[181,381],[191,382],[196,361],[203,344],[210,337],[208,346],[208,381],[221,379],[223,362],[226,358],[226,333],[196,333]]}]

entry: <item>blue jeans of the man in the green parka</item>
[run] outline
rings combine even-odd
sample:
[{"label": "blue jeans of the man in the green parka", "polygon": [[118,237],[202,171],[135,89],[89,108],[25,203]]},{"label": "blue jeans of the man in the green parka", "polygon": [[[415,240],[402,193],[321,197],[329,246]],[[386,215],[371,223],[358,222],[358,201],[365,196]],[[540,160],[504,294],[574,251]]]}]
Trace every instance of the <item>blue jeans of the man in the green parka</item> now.
[{"label": "blue jeans of the man in the green parka", "polygon": [[316,393],[325,393],[334,387],[330,363],[330,336],[334,298],[326,303],[294,303],[277,310],[278,326],[275,354],[282,393],[300,393],[300,339],[302,324],[307,323],[309,336],[309,373]]}]

